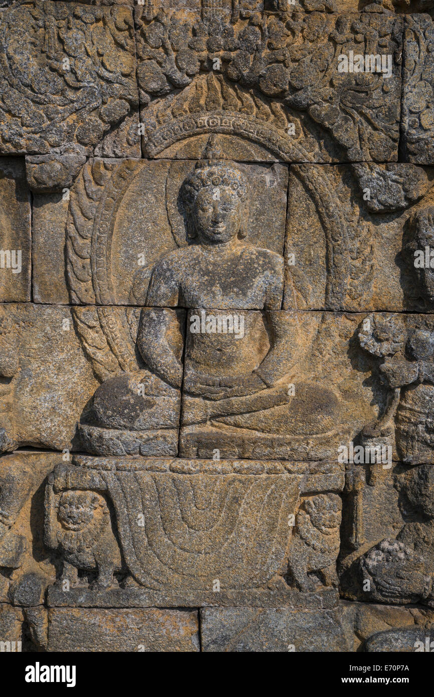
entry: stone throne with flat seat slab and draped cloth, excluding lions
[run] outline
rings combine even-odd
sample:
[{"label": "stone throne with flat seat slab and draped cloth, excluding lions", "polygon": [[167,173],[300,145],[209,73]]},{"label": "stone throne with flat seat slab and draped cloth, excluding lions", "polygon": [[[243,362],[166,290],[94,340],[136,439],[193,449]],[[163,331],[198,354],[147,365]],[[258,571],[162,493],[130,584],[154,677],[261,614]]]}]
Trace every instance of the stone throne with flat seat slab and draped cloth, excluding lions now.
[{"label": "stone throne with flat seat slab and draped cloth, excluding lions", "polygon": [[[130,574],[107,603],[159,605],[170,599],[195,606],[219,604],[224,594],[223,602],[245,602],[242,594],[249,591],[265,593],[271,602],[275,592],[289,593],[286,604],[293,602],[291,593],[297,595],[284,583],[297,511],[306,496],[336,496],[324,492],[339,493],[343,484],[339,464],[76,455],[73,464],[59,464],[49,477],[46,535],[59,537],[65,491],[94,491],[113,505]],[[74,603],[73,597],[81,596],[71,588],[57,602]],[[261,599],[266,598],[256,600]],[[320,595],[313,602],[322,602]]]}]

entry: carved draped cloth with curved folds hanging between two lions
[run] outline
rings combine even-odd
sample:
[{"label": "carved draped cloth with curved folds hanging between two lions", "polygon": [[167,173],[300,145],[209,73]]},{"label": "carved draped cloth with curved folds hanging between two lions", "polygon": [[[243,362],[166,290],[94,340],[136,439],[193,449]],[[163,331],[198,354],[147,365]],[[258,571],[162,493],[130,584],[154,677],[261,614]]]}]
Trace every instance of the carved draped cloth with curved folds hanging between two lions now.
[{"label": "carved draped cloth with curved folds hanging between two lions", "polygon": [[[298,477],[103,475],[127,566],[145,588],[264,588],[286,569]],[[137,525],[143,521],[143,526]]]}]

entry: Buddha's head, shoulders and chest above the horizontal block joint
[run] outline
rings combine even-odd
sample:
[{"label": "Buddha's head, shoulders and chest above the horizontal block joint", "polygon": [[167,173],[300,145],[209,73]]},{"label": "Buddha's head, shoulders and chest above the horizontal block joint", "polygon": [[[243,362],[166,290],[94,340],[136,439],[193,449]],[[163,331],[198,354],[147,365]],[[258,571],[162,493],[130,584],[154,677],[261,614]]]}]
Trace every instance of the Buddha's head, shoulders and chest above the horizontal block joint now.
[{"label": "Buddha's head, shoulders and chest above the horizontal block joint", "polygon": [[[214,156],[207,148],[207,154]],[[149,307],[280,309],[284,261],[246,240],[247,182],[227,160],[199,162],[183,185],[193,244],[169,252],[150,280]]]}]

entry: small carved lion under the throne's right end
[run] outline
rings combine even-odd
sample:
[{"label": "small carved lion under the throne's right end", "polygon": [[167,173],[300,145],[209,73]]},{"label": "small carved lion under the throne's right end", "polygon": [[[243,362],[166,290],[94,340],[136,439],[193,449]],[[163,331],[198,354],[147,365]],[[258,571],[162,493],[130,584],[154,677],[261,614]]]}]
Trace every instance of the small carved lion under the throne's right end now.
[{"label": "small carved lion under the throne's right end", "polygon": [[326,586],[336,586],[336,558],[339,553],[341,497],[320,493],[304,500],[295,521],[290,543],[288,570],[303,592],[316,590],[317,574]]}]

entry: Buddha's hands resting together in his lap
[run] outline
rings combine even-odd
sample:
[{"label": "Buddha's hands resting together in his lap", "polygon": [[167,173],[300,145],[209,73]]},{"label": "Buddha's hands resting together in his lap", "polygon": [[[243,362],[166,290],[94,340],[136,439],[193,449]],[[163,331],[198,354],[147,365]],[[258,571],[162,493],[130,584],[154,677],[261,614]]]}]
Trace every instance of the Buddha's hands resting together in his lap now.
[{"label": "Buddha's hands resting together in his lap", "polygon": [[256,373],[220,378],[189,371],[184,378],[184,390],[190,395],[205,399],[245,397],[265,389],[267,385]]}]

